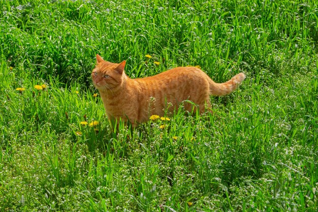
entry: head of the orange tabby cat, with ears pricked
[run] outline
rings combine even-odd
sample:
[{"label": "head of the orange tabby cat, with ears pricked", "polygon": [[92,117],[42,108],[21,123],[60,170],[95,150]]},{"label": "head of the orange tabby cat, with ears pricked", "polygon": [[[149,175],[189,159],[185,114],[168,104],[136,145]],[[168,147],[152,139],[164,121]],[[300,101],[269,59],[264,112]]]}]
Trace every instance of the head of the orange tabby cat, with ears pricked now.
[{"label": "head of the orange tabby cat, with ears pricked", "polygon": [[112,90],[120,86],[124,80],[125,60],[120,64],[105,61],[100,55],[96,55],[97,66],[93,69],[91,77],[94,86],[100,91]]}]

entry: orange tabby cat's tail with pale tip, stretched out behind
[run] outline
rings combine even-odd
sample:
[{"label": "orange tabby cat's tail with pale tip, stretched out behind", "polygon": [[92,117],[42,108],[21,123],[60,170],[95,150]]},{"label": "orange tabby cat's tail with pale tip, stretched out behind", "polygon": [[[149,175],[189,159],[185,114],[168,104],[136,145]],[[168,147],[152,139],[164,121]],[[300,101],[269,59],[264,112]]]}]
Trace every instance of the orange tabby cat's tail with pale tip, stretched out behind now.
[{"label": "orange tabby cat's tail with pale tip, stretched out behind", "polygon": [[231,94],[236,90],[239,84],[245,79],[244,73],[235,75],[232,79],[224,83],[216,83],[209,78],[210,95],[213,96],[224,96]]}]

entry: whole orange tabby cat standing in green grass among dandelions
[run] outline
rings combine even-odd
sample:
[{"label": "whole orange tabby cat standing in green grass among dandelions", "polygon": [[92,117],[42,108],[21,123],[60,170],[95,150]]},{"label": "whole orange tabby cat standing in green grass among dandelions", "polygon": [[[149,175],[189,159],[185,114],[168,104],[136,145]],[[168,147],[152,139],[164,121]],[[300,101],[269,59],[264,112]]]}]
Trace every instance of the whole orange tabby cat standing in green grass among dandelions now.
[{"label": "whole orange tabby cat standing in green grass among dandelions", "polygon": [[[110,63],[98,54],[96,59],[91,76],[108,118],[129,120],[133,127],[149,120],[150,115],[163,116],[170,103],[171,112],[184,100],[196,103],[203,112],[205,104],[210,106],[210,95],[230,94],[245,78],[239,73],[225,83],[215,83],[198,68],[178,67],[155,76],[131,79],[124,73],[125,60]],[[190,111],[192,105],[184,104],[184,109]]]}]

